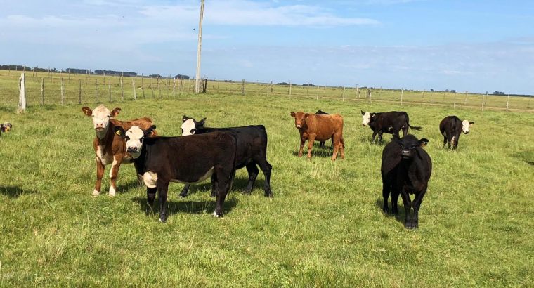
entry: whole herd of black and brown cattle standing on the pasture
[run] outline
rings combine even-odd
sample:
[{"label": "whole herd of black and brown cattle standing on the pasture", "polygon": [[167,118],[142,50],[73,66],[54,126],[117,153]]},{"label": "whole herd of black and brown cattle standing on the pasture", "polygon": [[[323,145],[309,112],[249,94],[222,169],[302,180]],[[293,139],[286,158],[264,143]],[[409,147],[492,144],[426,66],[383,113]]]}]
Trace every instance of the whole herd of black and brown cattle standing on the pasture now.
[{"label": "whole herd of black and brown cattle standing on the pasture", "polygon": [[[138,180],[147,187],[147,213],[152,210],[156,192],[159,200],[159,221],[167,221],[167,192],[169,183],[185,183],[181,197],[188,195],[190,185],[211,178],[211,196],[216,197],[214,216],[223,215],[223,204],[231,189],[236,169],[246,167],[249,180],[245,193],[252,192],[259,169],[265,176],[265,196],[273,197],[271,191],[271,169],[267,161],[267,132],[263,125],[228,128],[205,127],[205,118],[196,121],[183,116],[182,135],[177,137],[158,136],[152,119],[143,117],[129,121],[115,119],[120,108],[110,111],[104,105],[94,110],[82,107],[82,111],[93,119],[95,138],[93,148],[96,153],[96,184],[93,196],[100,194],[105,166],[110,164],[109,195],[117,191],[117,174],[122,163],[133,163]],[[378,134],[382,141],[383,133],[393,135],[391,142],[382,151],[382,196],[384,213],[398,214],[398,196],[401,195],[405,209],[405,227],[417,228],[419,207],[428,188],[432,162],[423,149],[429,142],[426,138],[417,139],[408,134],[408,129],[420,130],[411,126],[406,112],[363,112],[363,126],[372,129],[372,140]],[[319,110],[315,114],[291,112],[295,127],[300,134],[299,157],[303,154],[308,140],[308,159],[315,140],[324,147],[326,140],[332,140],[332,161],[339,154],[345,156],[343,138],[343,117]],[[439,124],[443,135],[443,147],[456,149],[460,134],[469,133],[474,122],[461,120],[456,116],[445,117]],[[13,126],[1,124],[1,133]],[[403,137],[399,135],[403,131]],[[1,134],[0,133],[0,134]],[[194,161],[192,160],[194,159]],[[259,166],[259,169],[258,169]],[[415,194],[411,201],[410,194]],[[391,210],[388,199],[391,195]],[[413,208],[413,215],[411,210]]]}]

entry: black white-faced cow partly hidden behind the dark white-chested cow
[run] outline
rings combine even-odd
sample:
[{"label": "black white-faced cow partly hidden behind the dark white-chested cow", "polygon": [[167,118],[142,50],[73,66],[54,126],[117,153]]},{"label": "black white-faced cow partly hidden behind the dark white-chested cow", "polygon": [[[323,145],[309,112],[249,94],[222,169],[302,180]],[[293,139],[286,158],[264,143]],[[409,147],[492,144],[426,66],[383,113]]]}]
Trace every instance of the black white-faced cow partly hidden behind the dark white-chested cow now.
[{"label": "black white-faced cow partly hidden behind the dark white-chested cow", "polygon": [[[182,117],[182,136],[193,134],[203,134],[216,131],[230,131],[235,133],[237,139],[237,155],[235,156],[235,169],[247,167],[249,172],[249,183],[247,184],[246,194],[252,192],[252,186],[258,176],[258,165],[265,176],[265,197],[273,197],[271,191],[271,169],[273,166],[267,162],[267,132],[265,126],[242,126],[230,128],[207,128],[204,127],[206,118],[197,122],[195,119],[183,115]],[[183,187],[180,193],[181,197],[188,195],[189,184]],[[215,197],[215,187],[211,190],[211,196]]]}]

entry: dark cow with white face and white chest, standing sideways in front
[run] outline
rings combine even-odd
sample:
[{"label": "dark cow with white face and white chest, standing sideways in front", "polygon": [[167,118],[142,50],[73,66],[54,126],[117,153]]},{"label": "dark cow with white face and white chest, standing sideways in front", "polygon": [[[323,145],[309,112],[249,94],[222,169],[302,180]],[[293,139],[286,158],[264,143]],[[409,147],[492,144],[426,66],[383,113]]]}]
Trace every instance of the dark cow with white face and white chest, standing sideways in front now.
[{"label": "dark cow with white face and white chest, standing sideways in front", "polygon": [[[188,137],[147,138],[155,126],[143,131],[131,126],[124,131],[115,126],[115,133],[126,140],[137,174],[147,187],[150,207],[159,199],[159,221],[167,221],[167,191],[170,182],[198,183],[211,177],[217,199],[214,216],[223,216],[223,204],[235,176],[235,135],[228,131]],[[147,212],[149,210],[147,209]]]}]

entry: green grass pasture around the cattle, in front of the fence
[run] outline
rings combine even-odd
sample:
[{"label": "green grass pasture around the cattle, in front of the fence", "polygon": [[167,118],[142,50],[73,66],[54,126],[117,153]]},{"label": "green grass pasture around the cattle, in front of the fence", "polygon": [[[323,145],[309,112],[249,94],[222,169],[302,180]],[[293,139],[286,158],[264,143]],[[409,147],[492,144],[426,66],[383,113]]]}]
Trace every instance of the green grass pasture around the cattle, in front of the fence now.
[{"label": "green grass pasture around the cattle, in front of the fence", "polygon": [[[87,104],[85,104],[87,105]],[[264,124],[274,197],[263,174],[242,195],[238,171],[225,216],[214,218],[209,182],[169,186],[169,218],[145,216],[145,188],[132,165],[110,198],[91,197],[96,168],[91,119],[83,105],[3,106],[0,121],[0,287],[529,287],[534,283],[534,114],[399,107],[287,96],[226,95],[105,103],[118,119],[152,117],[161,135],[181,133],[181,117],[208,126]],[[96,103],[89,104],[91,108]],[[346,157],[315,144],[296,156],[289,112],[344,116]],[[370,142],[360,110],[405,110],[434,171],[419,229],[382,214],[383,144]],[[441,148],[438,123],[457,114],[476,122],[458,150]],[[384,137],[386,143],[389,137]],[[327,142],[327,146],[330,141]]]}]

